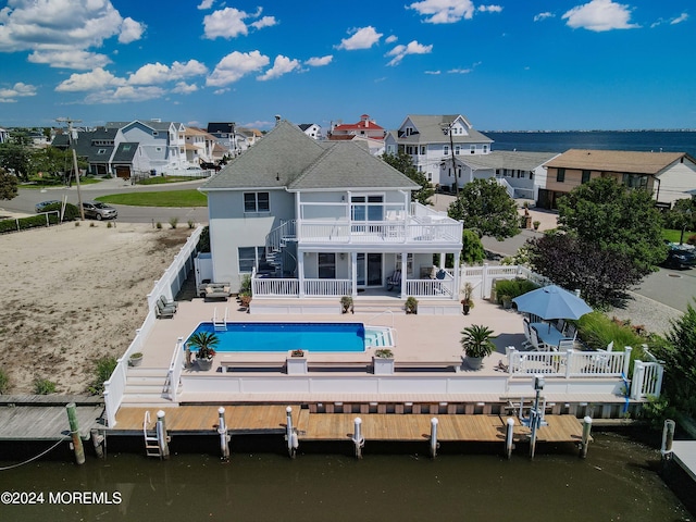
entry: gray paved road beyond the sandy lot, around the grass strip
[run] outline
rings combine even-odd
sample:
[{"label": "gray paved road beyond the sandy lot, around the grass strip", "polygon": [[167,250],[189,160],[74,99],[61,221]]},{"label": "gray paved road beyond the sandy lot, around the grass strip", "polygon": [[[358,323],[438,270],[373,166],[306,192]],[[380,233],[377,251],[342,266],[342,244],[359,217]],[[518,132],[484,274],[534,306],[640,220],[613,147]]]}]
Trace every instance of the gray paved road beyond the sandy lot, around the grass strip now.
[{"label": "gray paved road beyond the sandy lot, around the grass strip", "polygon": [[[83,201],[95,199],[100,196],[126,191],[161,191],[161,190],[190,190],[198,188],[203,181],[172,183],[167,185],[130,185],[122,179],[108,179],[98,184],[82,185],[80,196]],[[67,197],[67,202],[77,204],[77,188],[72,187],[38,189],[20,189],[16,198],[10,201],[0,201],[0,208],[9,212],[34,213],[34,207],[39,201],[51,199],[60,200]],[[208,207],[184,207],[184,208],[162,208],[162,207],[130,207],[125,204],[114,204],[119,210],[119,221],[125,223],[167,223],[171,217],[177,217],[184,224],[189,220],[196,223],[208,223]]]}]

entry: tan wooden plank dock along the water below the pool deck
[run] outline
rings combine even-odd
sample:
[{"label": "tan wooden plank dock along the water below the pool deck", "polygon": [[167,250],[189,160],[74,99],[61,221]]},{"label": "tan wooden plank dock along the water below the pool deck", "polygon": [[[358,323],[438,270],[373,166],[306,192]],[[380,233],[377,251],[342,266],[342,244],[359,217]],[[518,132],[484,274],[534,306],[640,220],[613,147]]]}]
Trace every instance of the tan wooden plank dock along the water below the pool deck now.
[{"label": "tan wooden plank dock along the water below the pool deck", "polygon": [[[141,433],[142,420],[148,408],[121,408],[116,414],[113,434]],[[150,418],[157,420],[157,409],[150,408]],[[171,433],[216,434],[217,407],[182,406],[163,408],[166,427]],[[293,407],[293,423],[300,440],[349,440],[356,417],[362,420],[365,440],[418,442],[427,440],[431,432],[430,414],[397,413],[310,413],[308,409]],[[440,442],[505,440],[506,419],[500,415],[437,415],[437,438]],[[284,434],[286,427],[285,406],[228,406],[225,422],[231,435]],[[537,433],[538,442],[579,443],[582,423],[573,415],[546,415],[548,425]],[[529,438],[530,430],[515,419],[514,439]]]}]

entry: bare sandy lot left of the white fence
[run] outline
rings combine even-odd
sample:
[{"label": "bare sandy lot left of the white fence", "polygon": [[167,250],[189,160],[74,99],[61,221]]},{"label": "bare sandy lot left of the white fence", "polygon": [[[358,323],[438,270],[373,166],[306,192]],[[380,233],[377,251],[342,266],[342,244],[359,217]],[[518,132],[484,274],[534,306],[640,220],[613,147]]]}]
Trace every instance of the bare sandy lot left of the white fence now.
[{"label": "bare sandy lot left of the white fence", "polygon": [[190,232],[84,222],[0,236],[0,368],[10,393],[34,393],[35,378],[84,393],[95,360],[133,340],[147,294]]}]

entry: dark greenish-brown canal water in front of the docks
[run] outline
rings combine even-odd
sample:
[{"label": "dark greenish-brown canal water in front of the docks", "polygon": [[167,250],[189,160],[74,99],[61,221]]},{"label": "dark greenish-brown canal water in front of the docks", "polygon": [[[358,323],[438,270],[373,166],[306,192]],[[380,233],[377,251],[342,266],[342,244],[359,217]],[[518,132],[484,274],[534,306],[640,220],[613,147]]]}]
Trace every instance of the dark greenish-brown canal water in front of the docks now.
[{"label": "dark greenish-brown canal water in front of the docks", "polygon": [[[534,460],[524,447],[507,460],[497,447],[443,445],[431,459],[419,453],[426,443],[371,442],[362,460],[355,459],[350,443],[301,445],[289,459],[275,436],[261,445],[265,451],[251,437],[233,438],[228,462],[216,456],[214,437],[201,452],[174,451],[169,461],[148,460],[141,450],[89,457],[82,467],[42,460],[0,471],[0,492],[44,494],[42,502],[3,501],[0,520],[694,520],[662,481],[658,450],[616,433],[594,436],[586,459],[566,445],[539,445]],[[201,437],[192,438],[189,449],[200,444]],[[681,470],[670,469],[678,485],[693,486]]]}]

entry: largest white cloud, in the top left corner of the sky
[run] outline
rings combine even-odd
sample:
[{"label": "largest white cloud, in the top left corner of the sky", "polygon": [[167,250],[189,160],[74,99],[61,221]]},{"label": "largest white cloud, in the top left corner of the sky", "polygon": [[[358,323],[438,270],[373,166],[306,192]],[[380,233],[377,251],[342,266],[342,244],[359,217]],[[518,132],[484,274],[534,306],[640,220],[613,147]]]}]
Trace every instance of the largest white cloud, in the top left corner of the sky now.
[{"label": "largest white cloud, in the top left corner of the sky", "polygon": [[[91,69],[109,63],[88,52],[104,40],[138,39],[145,26],[123,18],[110,0],[11,0],[0,11],[0,52],[33,51],[29,61]],[[49,58],[50,57],[50,58]]]}]

